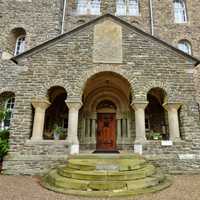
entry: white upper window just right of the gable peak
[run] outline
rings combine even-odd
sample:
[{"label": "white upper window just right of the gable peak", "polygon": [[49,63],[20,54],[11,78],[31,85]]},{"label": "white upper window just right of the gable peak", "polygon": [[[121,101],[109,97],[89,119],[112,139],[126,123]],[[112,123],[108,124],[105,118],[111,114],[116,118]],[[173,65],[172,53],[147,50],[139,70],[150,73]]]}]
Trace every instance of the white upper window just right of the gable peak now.
[{"label": "white upper window just right of the gable peak", "polygon": [[116,15],[139,15],[139,0],[117,0]]}]

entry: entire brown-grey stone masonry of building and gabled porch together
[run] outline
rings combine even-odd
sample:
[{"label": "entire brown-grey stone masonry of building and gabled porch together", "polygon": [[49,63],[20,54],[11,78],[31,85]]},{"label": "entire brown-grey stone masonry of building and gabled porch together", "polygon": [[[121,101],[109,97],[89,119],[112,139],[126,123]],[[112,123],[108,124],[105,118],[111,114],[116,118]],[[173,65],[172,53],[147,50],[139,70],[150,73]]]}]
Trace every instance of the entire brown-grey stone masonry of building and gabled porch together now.
[{"label": "entire brown-grey stone masonry of building and gabled porch together", "polygon": [[[27,33],[27,49],[60,34],[63,1],[0,1],[0,48],[13,54],[10,33],[22,27]],[[177,46],[181,39],[192,44],[193,55],[199,56],[198,0],[187,1],[189,22],[174,24],[172,1],[154,1],[155,36]],[[77,16],[76,4],[70,0],[65,16],[65,31],[69,31],[98,16]],[[140,15],[121,17],[150,33],[149,1],[141,0]],[[102,14],[115,14],[114,1],[102,1]],[[115,22],[118,23],[118,22]],[[120,23],[119,23],[120,24]],[[169,147],[149,142],[144,152],[170,171],[197,169],[199,166],[199,67],[193,78],[193,63],[154,39],[122,26],[123,62],[93,63],[93,29],[91,24],[52,42],[39,53],[33,52],[18,64],[0,60],[0,94],[13,92],[16,105],[11,122],[10,152],[4,162],[8,174],[43,173],[67,158],[64,142],[29,141],[33,124],[33,97],[44,98],[52,86],[64,87],[68,97],[81,99],[88,78],[98,72],[112,71],[125,77],[132,87],[132,99],[145,101],[153,87],[163,88],[168,101],[183,103],[180,111],[181,134],[184,141]],[[133,42],[134,41],[134,42]],[[193,81],[195,80],[195,82]],[[196,84],[196,91],[195,91]],[[197,100],[196,100],[197,96]],[[134,124],[134,122],[132,122]],[[134,132],[134,131],[133,131]],[[169,159],[164,159],[169,155]],[[180,155],[183,155],[180,157]],[[180,161],[181,160],[181,161]],[[162,162],[161,162],[162,161]]]}]

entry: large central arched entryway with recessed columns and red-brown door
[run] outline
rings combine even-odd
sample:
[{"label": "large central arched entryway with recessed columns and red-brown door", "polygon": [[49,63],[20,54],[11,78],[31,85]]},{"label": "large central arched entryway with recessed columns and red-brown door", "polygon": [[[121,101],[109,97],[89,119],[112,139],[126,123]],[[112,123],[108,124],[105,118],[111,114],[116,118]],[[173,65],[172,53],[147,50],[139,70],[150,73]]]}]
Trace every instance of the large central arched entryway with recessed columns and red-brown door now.
[{"label": "large central arched entryway with recessed columns and red-brown door", "polygon": [[131,87],[114,72],[100,72],[87,80],[79,116],[81,148],[102,151],[133,144],[134,111]]}]

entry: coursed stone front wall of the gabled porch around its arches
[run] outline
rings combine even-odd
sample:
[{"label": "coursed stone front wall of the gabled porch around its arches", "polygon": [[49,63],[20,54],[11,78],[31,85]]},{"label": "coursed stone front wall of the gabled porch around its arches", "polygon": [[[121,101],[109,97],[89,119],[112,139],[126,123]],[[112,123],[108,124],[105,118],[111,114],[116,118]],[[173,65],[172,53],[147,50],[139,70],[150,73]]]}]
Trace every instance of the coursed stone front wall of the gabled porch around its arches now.
[{"label": "coursed stone front wall of the gabled porch around its arches", "polygon": [[[123,63],[93,63],[94,26],[104,20],[111,20],[122,26]],[[33,123],[32,98],[45,98],[49,88],[61,86],[67,91],[68,98],[81,99],[87,79],[104,71],[117,73],[127,79],[133,91],[132,99],[135,101],[145,101],[151,88],[161,87],[166,91],[169,102],[183,104],[181,131],[184,142],[175,143],[165,149],[161,148],[160,144],[151,145],[149,142],[146,150],[148,154],[199,154],[200,125],[193,74],[190,73],[193,68],[192,60],[112,18],[106,17],[95,23],[50,42],[39,52],[19,57],[18,65],[13,64],[23,70],[12,82],[16,91],[16,105],[10,152],[4,162],[6,173],[42,173],[47,166],[58,163],[59,161],[55,161],[57,158],[67,155],[68,149],[63,143],[29,142]],[[8,66],[8,69],[10,67]],[[9,78],[4,74],[5,82]],[[0,84],[1,88],[5,87],[3,82]],[[45,156],[49,159],[43,162],[42,158]],[[190,161],[187,160],[188,166]],[[179,165],[172,163],[170,167],[170,170],[176,170]],[[37,170],[34,171],[33,168]]]}]

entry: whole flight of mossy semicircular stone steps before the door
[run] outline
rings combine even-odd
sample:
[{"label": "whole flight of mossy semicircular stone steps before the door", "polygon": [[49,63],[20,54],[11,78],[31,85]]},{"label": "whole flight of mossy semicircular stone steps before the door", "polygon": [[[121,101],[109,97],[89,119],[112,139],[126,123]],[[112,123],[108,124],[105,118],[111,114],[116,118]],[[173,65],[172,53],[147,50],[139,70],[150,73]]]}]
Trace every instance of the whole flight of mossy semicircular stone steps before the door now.
[{"label": "whole flight of mossy semicircular stone steps before the door", "polygon": [[81,155],[50,171],[42,185],[66,194],[114,197],[155,192],[170,181],[140,156]]}]

